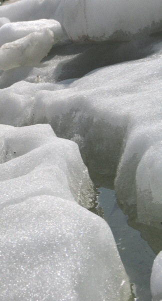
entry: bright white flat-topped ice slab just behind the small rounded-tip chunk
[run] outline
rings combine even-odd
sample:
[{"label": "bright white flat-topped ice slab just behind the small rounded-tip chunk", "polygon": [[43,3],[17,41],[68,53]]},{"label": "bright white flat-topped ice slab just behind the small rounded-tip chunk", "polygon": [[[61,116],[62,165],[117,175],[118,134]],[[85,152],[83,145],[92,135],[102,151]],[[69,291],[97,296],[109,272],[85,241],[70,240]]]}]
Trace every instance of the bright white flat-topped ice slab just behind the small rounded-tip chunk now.
[{"label": "bright white flat-topped ice slab just behind the small rounded-tip chunk", "polygon": [[[47,28],[53,32],[54,44],[62,40],[62,30],[59,22],[42,19],[4,24],[0,28],[0,46],[21,39],[31,33],[41,32],[43,29]],[[42,40],[43,39],[44,37],[42,37]]]}]

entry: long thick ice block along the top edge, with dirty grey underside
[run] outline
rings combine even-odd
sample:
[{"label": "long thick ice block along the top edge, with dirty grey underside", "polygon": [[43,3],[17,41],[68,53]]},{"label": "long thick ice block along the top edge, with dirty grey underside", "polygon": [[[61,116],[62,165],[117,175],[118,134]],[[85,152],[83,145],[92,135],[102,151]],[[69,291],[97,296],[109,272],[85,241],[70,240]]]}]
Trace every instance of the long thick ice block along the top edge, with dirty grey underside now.
[{"label": "long thick ice block along the top edge, with dirty grey underside", "polygon": [[161,28],[161,1],[21,0],[0,7],[0,17],[10,22],[54,19],[79,43],[127,41]]}]

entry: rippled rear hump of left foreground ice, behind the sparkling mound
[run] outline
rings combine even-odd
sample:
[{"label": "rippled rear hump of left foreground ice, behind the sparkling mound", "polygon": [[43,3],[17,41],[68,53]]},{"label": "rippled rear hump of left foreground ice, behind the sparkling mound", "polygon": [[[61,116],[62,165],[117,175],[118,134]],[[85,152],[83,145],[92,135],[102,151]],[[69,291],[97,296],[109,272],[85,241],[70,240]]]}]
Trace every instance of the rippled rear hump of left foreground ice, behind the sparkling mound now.
[{"label": "rippled rear hump of left foreground ice, behind the sparkling mound", "polygon": [[49,125],[0,125],[0,144],[1,207],[63,191],[63,198],[91,207],[93,185],[74,142],[55,137]]}]

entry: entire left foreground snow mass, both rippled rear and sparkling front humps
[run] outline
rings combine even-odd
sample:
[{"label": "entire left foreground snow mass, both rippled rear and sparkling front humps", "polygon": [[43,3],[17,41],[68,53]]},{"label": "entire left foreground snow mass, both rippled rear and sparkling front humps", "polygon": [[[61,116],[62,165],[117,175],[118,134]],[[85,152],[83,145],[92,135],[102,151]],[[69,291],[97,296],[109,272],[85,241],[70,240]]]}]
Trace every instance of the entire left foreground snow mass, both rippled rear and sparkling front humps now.
[{"label": "entire left foreground snow mass, both rippled rear and sparkling front humps", "polygon": [[129,282],[78,146],[0,125],[1,300],[127,301]]}]

